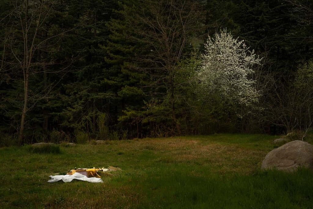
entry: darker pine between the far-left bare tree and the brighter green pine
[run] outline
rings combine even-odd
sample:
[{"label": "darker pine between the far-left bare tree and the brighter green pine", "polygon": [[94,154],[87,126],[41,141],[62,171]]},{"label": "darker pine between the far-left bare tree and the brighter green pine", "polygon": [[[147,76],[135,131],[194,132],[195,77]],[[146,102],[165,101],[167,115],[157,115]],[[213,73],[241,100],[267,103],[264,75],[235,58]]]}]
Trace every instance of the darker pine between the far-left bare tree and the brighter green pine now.
[{"label": "darker pine between the far-left bare tree and the brighter green pine", "polygon": [[80,25],[74,46],[79,60],[74,63],[77,70],[72,79],[64,84],[62,100],[66,107],[59,115],[62,127],[95,133],[97,116],[101,112],[110,112],[110,101],[114,98],[110,86],[104,82],[109,76],[101,46],[110,34],[106,23],[112,16],[115,2],[96,0],[81,4],[73,1],[72,4],[73,15],[80,11],[75,17]]}]

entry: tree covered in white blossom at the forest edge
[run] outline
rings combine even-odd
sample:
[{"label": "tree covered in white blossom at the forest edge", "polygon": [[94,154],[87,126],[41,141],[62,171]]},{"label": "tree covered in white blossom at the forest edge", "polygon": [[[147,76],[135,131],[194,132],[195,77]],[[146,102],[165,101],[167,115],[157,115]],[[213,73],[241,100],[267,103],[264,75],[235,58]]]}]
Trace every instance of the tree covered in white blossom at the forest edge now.
[{"label": "tree covered in white blossom at the forest edge", "polygon": [[253,73],[261,58],[250,51],[244,40],[234,39],[222,30],[204,44],[198,79],[205,92],[216,92],[234,105],[251,106],[258,102]]}]

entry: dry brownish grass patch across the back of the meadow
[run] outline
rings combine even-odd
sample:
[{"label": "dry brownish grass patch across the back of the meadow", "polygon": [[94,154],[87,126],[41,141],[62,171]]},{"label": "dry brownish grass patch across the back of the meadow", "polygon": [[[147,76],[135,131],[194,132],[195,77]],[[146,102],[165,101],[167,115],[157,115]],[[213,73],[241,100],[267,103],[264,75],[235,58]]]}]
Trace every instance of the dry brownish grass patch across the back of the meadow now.
[{"label": "dry brownish grass patch across the back of the meadow", "polygon": [[[192,163],[214,166],[220,173],[238,172],[251,174],[259,169],[260,162],[268,152],[262,149],[242,147],[237,144],[219,144],[199,139],[160,138],[141,139],[131,143],[111,142],[114,150],[151,151],[158,156],[156,162]],[[105,145],[104,145],[105,146]]]}]

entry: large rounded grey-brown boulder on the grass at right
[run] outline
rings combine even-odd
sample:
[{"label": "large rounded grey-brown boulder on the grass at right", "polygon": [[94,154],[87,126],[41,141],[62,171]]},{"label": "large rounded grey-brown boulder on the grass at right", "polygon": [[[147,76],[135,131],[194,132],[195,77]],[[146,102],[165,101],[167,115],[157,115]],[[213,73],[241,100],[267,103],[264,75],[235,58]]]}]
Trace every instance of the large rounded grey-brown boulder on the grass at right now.
[{"label": "large rounded grey-brown boulder on the grass at right", "polygon": [[270,151],[261,168],[293,171],[300,166],[313,170],[313,145],[295,140]]}]

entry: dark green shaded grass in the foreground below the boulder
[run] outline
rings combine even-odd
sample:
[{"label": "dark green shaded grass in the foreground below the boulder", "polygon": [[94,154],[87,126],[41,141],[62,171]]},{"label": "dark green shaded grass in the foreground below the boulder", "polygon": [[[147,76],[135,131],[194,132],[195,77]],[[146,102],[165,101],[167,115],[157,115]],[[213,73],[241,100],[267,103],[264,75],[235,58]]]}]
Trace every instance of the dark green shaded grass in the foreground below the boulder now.
[{"label": "dark green shaded grass in the foreground below the boulder", "polygon": [[306,169],[254,175],[174,170],[141,184],[142,208],[313,208],[313,173]]}]

